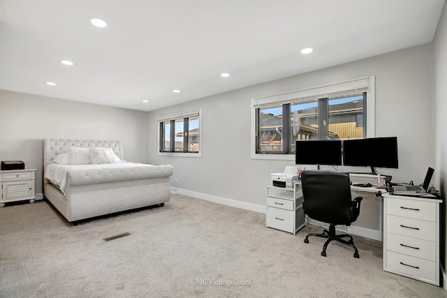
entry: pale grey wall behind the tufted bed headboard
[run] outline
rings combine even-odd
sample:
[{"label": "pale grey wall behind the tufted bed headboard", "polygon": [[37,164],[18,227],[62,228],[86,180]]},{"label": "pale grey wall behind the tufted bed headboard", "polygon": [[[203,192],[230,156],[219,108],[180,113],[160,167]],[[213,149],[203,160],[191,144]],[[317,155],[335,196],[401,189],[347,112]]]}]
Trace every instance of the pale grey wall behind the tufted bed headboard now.
[{"label": "pale grey wall behind the tufted bed headboard", "polygon": [[0,160],[38,169],[36,193],[44,138],[119,140],[127,161],[146,162],[146,112],[0,90],[0,128]]}]

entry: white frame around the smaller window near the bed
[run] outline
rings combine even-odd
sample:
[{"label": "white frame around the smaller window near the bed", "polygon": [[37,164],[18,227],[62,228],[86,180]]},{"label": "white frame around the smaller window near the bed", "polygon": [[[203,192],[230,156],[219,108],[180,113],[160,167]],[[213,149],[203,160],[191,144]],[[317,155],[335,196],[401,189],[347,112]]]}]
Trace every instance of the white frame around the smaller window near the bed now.
[{"label": "white frame around the smaller window near the bed", "polygon": [[[182,119],[186,117],[195,117],[198,116],[198,152],[162,152],[160,151],[160,144],[161,144],[161,131],[160,131],[160,125],[164,121],[171,121],[175,119]],[[157,117],[157,131],[158,131],[158,137],[157,137],[157,145],[156,145],[156,151],[158,156],[182,156],[182,157],[202,157],[202,109],[198,110],[192,110],[188,112],[180,112],[175,114],[168,114],[164,116]]]}]

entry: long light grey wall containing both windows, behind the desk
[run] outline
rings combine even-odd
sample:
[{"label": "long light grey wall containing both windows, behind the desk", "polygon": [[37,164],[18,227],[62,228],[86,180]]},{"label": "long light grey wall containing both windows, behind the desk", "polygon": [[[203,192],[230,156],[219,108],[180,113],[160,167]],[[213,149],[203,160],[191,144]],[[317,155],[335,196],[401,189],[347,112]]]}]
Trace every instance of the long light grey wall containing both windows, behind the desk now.
[{"label": "long light grey wall containing both windows, behind the desk", "polygon": [[[420,45],[149,112],[147,160],[172,164],[170,181],[176,188],[265,206],[270,174],[293,161],[251,159],[251,98],[375,75],[376,136],[396,135],[400,158],[399,170],[381,172],[392,175],[393,181],[422,183],[432,161],[427,146],[432,140],[431,52],[431,45]],[[198,108],[203,115],[202,157],[157,156],[156,118]],[[367,216],[367,209],[362,212]]]}]

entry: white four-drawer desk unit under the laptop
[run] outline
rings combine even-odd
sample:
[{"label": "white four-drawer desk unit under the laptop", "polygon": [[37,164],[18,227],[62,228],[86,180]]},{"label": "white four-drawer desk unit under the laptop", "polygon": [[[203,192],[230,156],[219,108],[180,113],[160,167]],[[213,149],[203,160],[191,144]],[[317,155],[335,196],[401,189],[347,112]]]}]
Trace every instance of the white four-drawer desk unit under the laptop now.
[{"label": "white four-drawer desk unit under the laptop", "polygon": [[439,285],[441,202],[383,194],[383,270]]}]

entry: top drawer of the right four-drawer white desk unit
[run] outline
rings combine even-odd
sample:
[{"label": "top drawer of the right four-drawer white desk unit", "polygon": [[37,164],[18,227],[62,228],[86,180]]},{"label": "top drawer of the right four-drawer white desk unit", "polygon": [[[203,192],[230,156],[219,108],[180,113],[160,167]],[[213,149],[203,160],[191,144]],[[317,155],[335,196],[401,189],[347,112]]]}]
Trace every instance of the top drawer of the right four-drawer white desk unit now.
[{"label": "top drawer of the right four-drawer white desk unit", "polygon": [[386,214],[436,221],[437,204],[434,202],[388,198],[386,205]]}]

